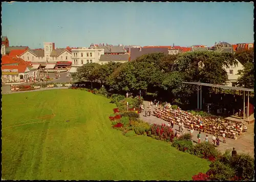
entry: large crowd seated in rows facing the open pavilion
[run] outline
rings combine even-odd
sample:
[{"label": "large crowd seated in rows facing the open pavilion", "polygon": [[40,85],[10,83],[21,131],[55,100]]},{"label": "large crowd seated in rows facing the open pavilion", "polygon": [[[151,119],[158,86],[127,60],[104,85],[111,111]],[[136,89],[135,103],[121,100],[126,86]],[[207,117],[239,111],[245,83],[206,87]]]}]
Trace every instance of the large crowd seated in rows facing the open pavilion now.
[{"label": "large crowd seated in rows facing the open pavilion", "polygon": [[163,108],[158,107],[153,111],[154,115],[170,123],[182,123],[186,128],[199,130],[201,132],[223,135],[227,138],[237,139],[238,135],[247,130],[242,123],[221,120],[220,118],[201,117],[190,112],[183,111],[179,107],[173,109],[172,105],[166,103]]}]

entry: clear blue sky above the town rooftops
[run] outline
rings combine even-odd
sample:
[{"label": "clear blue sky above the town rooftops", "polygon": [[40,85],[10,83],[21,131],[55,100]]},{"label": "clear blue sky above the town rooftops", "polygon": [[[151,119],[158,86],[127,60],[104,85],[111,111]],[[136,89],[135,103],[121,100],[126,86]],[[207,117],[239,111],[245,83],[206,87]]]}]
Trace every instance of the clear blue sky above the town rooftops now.
[{"label": "clear blue sky above the town rooftops", "polygon": [[2,36],[42,48],[253,42],[252,3],[2,3]]}]

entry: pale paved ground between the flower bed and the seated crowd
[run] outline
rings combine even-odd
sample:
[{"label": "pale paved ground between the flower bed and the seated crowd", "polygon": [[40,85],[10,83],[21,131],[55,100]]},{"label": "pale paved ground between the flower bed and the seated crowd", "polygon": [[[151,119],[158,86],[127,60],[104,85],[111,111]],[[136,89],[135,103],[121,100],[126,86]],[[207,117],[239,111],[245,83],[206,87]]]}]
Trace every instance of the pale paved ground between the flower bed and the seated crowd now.
[{"label": "pale paved ground between the flower bed and the seated crowd", "polygon": [[[148,106],[147,101],[144,101],[144,104],[145,104],[145,107]],[[147,117],[145,117],[144,115],[145,115],[145,112],[140,113],[140,118],[147,123],[151,123],[151,124],[156,123],[159,125],[168,124],[168,122],[166,122],[162,119],[159,119],[153,115],[147,116]],[[223,143],[222,137],[220,137],[221,142],[220,142],[219,150],[224,152],[226,149],[232,149],[234,147],[234,148],[236,148],[238,153],[242,153],[242,152],[249,153],[252,157],[254,157],[254,123],[247,125],[247,128],[248,128],[247,129],[248,131],[243,132],[243,134],[240,135],[237,140],[226,138],[226,143]],[[174,129],[176,129],[178,132],[179,126],[177,124],[175,124]],[[185,128],[185,132],[189,133],[190,131],[187,128]],[[192,139],[193,139],[194,144],[196,144],[198,141],[198,139],[197,139],[198,133],[199,133],[199,131],[196,131],[196,130],[193,133]],[[205,137],[206,137],[206,133],[201,132],[201,141],[204,141]],[[209,141],[211,141],[211,137],[212,137],[212,135],[208,134]]]}]

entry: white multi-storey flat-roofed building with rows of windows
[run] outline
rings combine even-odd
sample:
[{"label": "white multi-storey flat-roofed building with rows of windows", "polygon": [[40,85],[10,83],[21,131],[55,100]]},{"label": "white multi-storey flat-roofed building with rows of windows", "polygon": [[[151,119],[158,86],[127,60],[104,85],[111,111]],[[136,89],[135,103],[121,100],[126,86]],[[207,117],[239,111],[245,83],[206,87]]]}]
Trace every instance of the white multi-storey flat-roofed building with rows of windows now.
[{"label": "white multi-storey flat-roofed building with rows of windows", "polygon": [[72,69],[70,73],[76,72],[77,67],[83,64],[99,63],[101,55],[104,55],[104,49],[72,49]]}]

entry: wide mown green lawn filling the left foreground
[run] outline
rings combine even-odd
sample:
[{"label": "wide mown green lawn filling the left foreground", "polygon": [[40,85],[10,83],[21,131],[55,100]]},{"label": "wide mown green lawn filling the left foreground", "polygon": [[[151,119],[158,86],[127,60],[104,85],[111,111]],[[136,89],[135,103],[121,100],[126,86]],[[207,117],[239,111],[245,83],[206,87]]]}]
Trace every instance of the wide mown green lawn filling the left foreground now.
[{"label": "wide mown green lawn filling the left foreground", "polygon": [[2,178],[191,180],[209,169],[165,142],[112,129],[114,107],[82,90],[3,95]]}]

